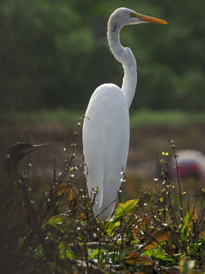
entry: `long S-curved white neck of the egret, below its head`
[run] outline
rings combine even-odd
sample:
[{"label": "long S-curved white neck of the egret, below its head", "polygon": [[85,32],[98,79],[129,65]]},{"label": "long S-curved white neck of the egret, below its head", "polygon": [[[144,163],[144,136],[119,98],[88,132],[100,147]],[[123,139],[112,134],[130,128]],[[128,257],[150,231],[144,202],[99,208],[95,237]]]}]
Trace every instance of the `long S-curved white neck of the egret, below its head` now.
[{"label": "long S-curved white neck of the egret, below its head", "polygon": [[122,81],[122,92],[128,108],[130,108],[137,86],[137,64],[131,49],[124,48],[120,44],[120,29],[122,27],[123,26],[117,26],[112,17],[109,18],[107,40],[115,59],[123,66],[124,78]]}]

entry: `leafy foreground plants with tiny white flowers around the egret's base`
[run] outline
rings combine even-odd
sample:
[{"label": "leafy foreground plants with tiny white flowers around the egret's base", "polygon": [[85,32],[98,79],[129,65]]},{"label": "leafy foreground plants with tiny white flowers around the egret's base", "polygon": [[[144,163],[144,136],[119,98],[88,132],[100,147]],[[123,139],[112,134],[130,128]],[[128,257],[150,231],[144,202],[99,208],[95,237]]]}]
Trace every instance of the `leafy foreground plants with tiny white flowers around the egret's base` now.
[{"label": "leafy foreground plants with tiny white flowers around the egret's base", "polygon": [[[79,128],[73,143],[79,142]],[[177,159],[174,142],[172,150]],[[83,164],[75,165],[75,154],[68,156],[67,148],[64,171],[55,174],[54,166],[53,178],[38,182],[38,188],[25,171],[14,177],[15,184],[4,178],[1,233],[10,273],[203,273],[205,189],[191,201],[191,189],[181,192],[177,177],[176,202],[174,182],[167,177],[168,155],[161,154],[163,169],[154,186],[118,204],[104,223],[92,213],[98,188],[90,201]],[[28,164],[28,175],[32,168]]]}]

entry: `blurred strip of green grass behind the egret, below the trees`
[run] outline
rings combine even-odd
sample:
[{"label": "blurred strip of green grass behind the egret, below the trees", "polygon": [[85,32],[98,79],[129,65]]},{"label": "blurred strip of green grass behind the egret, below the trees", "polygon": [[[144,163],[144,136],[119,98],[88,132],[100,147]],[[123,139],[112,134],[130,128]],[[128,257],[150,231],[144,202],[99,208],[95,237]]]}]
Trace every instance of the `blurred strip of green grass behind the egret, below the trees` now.
[{"label": "blurred strip of green grass behind the egret, below the trees", "polygon": [[[85,112],[84,112],[85,114]],[[72,130],[83,112],[76,110],[38,110],[32,112],[3,112],[0,117],[1,129],[20,130],[22,124],[29,127],[29,131],[46,131],[49,127],[57,129],[59,132]],[[181,125],[204,125],[204,112],[182,112],[169,110],[138,110],[131,112],[131,129],[141,126],[166,126],[177,127]]]}]

